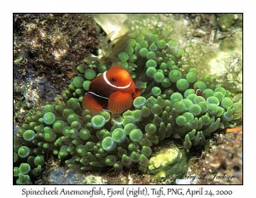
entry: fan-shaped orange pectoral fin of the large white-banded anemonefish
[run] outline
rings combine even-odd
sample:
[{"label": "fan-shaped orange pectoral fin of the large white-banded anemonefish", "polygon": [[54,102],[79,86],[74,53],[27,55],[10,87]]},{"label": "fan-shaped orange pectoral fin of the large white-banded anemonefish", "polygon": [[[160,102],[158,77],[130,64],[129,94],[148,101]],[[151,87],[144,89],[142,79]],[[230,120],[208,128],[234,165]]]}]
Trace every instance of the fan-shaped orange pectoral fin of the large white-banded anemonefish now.
[{"label": "fan-shaped orange pectoral fin of the large white-banded anemonefish", "polygon": [[108,98],[108,110],[114,114],[120,114],[125,110],[129,110],[132,106],[133,99],[131,94],[124,92],[112,93]]}]

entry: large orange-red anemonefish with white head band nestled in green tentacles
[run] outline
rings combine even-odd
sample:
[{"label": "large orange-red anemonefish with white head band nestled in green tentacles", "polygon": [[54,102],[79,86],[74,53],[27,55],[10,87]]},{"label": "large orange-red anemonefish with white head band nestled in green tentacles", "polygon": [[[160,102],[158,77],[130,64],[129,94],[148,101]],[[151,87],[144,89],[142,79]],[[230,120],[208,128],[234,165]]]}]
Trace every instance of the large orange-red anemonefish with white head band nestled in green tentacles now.
[{"label": "large orange-red anemonefish with white head band nestled in green tentacles", "polygon": [[120,65],[113,65],[90,82],[89,91],[84,95],[83,108],[94,115],[102,110],[120,114],[131,109],[133,99],[141,93],[141,88],[135,86],[128,71]]}]

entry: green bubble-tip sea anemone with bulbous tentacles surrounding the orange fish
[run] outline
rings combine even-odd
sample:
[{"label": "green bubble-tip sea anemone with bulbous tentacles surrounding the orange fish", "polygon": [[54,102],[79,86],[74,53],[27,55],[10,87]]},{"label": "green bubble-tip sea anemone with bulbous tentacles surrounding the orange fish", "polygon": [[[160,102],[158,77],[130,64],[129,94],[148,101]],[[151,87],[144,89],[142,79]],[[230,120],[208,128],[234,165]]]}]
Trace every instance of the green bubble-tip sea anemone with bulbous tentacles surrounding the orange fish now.
[{"label": "green bubble-tip sea anemone with bulbous tentacles surrounding the orange fish", "polygon": [[[15,136],[16,184],[37,177],[49,153],[83,171],[146,167],[152,146],[163,139],[183,139],[189,150],[241,119],[241,103],[214,77],[203,82],[195,69],[182,68],[183,51],[170,32],[131,31],[109,46],[108,57],[86,58],[77,67],[79,74],[64,91],[64,102],[56,100],[26,117]],[[129,71],[143,93],[134,99],[133,110],[93,116],[82,108],[84,93],[111,65]]]}]

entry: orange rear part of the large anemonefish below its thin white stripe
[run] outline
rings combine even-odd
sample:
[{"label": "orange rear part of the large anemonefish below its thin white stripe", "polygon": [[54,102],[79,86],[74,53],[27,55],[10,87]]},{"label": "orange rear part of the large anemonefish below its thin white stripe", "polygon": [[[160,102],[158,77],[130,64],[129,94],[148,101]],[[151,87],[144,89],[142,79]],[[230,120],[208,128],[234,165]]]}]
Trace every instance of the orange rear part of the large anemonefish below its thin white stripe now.
[{"label": "orange rear part of the large anemonefish below its thin white stripe", "polygon": [[102,111],[102,105],[100,105],[93,94],[86,93],[83,98],[84,110],[90,110],[93,115]]}]

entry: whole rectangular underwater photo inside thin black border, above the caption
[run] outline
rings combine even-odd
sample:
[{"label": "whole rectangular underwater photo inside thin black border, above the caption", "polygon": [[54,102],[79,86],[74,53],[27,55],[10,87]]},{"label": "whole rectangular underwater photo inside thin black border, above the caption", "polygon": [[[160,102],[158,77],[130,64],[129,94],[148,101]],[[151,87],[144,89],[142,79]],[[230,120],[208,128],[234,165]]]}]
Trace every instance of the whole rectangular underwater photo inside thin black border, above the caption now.
[{"label": "whole rectangular underwater photo inside thin black border, above the caption", "polygon": [[242,184],[242,14],[14,14],[14,184]]}]

